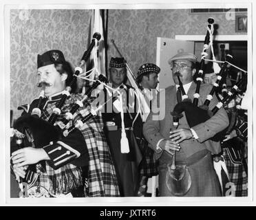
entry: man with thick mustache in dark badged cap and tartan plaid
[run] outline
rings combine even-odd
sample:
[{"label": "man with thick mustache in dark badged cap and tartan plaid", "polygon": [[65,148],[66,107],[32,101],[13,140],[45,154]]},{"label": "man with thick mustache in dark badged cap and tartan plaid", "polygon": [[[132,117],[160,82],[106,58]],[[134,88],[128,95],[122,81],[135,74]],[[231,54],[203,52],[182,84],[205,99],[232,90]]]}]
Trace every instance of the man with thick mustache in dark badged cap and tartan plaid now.
[{"label": "man with thick mustache in dark badged cap and tartan plaid", "polygon": [[[50,115],[56,111],[58,103],[64,94],[67,94],[65,88],[71,86],[73,78],[72,68],[65,61],[64,55],[60,50],[50,50],[37,56],[37,76],[39,85],[43,87],[45,97],[41,104],[39,99],[35,99],[24,109],[22,117],[35,117],[30,115],[35,108],[41,109],[41,120],[35,120],[32,126],[41,130],[36,137],[41,137],[41,141],[52,135],[53,126],[48,122]],[[54,125],[63,127],[63,118],[65,113],[71,110],[72,104],[76,100],[81,100],[81,94],[67,94],[62,107],[58,107],[61,113],[58,115]],[[76,125],[85,115],[90,112],[90,104],[94,98],[84,103],[73,115],[68,126]],[[19,119],[22,119],[19,118]],[[17,122],[19,121],[17,120]],[[24,126],[25,127],[25,126]],[[28,146],[18,149],[12,153],[12,164],[14,173],[19,179],[25,177],[25,170],[30,164],[36,164],[37,172],[41,175],[34,184],[36,193],[47,189],[43,197],[116,197],[119,196],[119,189],[116,181],[116,172],[111,161],[109,148],[105,142],[103,133],[103,122],[101,116],[87,120],[81,126],[78,126],[67,136],[61,133],[59,142],[47,143],[45,146],[31,136],[36,134],[32,129],[24,129],[28,137]],[[47,133],[47,131],[49,133]],[[54,129],[53,129],[54,131]],[[55,138],[55,137],[54,137]],[[57,137],[56,137],[57,138]],[[41,163],[42,162],[42,163]],[[41,164],[39,164],[41,163]],[[41,186],[41,187],[38,187]],[[32,193],[32,192],[31,192]],[[36,195],[31,195],[36,196]]]}]

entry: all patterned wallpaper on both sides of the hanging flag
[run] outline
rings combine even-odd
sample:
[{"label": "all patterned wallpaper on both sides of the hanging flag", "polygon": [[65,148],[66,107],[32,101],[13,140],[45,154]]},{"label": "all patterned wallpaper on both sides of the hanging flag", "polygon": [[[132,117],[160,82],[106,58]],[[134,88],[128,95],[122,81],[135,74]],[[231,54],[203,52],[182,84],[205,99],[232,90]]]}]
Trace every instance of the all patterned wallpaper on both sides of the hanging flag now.
[{"label": "all patterned wallpaper on both sides of the hanging flag", "polygon": [[[87,47],[90,10],[10,11],[10,109],[14,118],[20,104],[39,95],[36,88],[36,56],[50,49],[63,51],[77,65]],[[142,63],[156,63],[156,37],[206,34],[207,19],[214,17],[218,34],[235,33],[235,21],[225,14],[191,14],[184,10],[109,10],[108,61],[118,56],[111,39],[136,74]],[[243,34],[243,33],[239,33]]]}]

